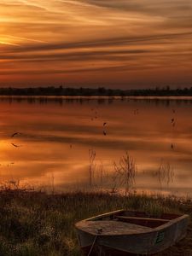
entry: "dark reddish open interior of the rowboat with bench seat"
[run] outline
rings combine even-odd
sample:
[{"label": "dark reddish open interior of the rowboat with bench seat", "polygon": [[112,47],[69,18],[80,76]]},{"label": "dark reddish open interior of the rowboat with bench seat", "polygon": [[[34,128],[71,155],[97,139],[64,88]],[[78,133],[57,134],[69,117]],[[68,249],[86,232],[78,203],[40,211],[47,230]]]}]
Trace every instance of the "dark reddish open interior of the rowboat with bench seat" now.
[{"label": "dark reddish open interior of the rowboat with bench seat", "polygon": [[156,228],[162,224],[168,223],[173,219],[179,218],[180,216],[181,215],[164,213],[157,218],[153,215],[148,215],[146,212],[121,211],[112,212],[111,214],[103,215],[93,220],[115,220],[130,224],[137,224],[149,228]]}]

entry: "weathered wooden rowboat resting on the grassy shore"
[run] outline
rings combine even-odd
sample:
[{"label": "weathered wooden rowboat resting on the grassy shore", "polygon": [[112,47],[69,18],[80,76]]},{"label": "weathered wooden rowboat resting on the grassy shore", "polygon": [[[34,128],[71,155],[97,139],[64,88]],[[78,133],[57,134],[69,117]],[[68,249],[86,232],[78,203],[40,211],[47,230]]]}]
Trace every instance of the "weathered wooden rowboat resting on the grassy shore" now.
[{"label": "weathered wooden rowboat resting on the grassy shore", "polygon": [[186,235],[189,215],[119,210],[75,224],[86,255],[150,255],[159,253]]}]

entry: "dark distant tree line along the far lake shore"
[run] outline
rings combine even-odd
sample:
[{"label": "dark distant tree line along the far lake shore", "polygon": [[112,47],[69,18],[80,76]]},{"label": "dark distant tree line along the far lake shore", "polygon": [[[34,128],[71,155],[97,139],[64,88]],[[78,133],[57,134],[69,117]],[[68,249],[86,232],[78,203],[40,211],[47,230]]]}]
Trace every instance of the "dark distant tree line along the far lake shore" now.
[{"label": "dark distant tree line along the far lake shore", "polygon": [[70,88],[70,87],[29,87],[0,88],[1,96],[192,96],[192,87],[171,89],[169,86],[155,89],[120,90],[104,87]]}]

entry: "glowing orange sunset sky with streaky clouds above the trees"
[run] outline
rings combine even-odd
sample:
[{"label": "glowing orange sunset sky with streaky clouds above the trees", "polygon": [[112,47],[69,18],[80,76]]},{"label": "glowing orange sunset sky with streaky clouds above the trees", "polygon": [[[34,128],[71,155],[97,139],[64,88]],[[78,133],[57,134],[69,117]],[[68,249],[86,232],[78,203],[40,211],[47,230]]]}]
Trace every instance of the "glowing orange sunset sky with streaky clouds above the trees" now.
[{"label": "glowing orange sunset sky with streaky clouds above the trees", "polygon": [[191,0],[0,0],[0,86],[192,86]]}]

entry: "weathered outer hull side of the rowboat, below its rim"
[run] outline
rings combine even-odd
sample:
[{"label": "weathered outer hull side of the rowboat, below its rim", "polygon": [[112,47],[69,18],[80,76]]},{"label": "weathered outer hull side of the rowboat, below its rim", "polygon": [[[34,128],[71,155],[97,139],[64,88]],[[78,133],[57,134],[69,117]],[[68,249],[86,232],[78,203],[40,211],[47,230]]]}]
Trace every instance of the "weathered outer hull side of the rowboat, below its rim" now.
[{"label": "weathered outer hull side of the rowboat, below its rim", "polygon": [[91,255],[94,255],[94,251],[97,252],[96,255],[102,255],[101,252],[98,253],[99,251],[108,252],[106,255],[125,255],[125,253],[126,255],[127,253],[152,255],[164,251],[183,239],[186,235],[187,226],[188,218],[183,216],[143,234],[93,236],[84,230],[77,229],[77,232],[79,245],[85,254],[89,253],[94,244]]}]

